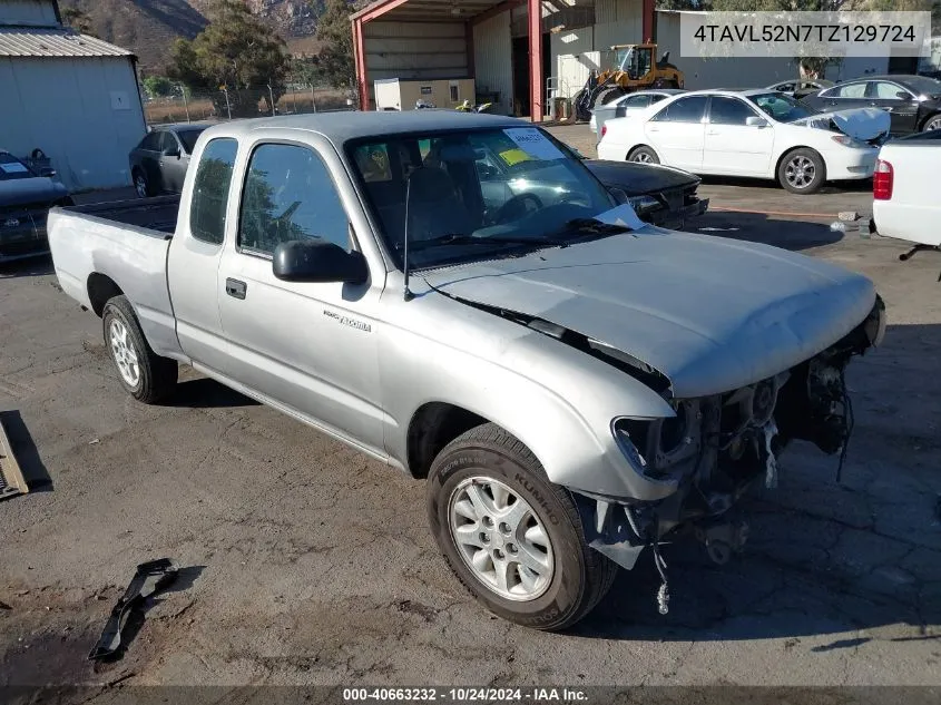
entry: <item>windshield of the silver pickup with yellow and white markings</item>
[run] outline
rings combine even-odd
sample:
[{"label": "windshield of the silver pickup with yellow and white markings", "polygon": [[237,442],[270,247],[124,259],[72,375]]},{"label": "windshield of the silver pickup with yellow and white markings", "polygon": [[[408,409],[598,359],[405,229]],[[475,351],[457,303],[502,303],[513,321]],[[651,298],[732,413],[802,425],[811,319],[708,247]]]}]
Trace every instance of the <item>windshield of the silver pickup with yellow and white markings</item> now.
[{"label": "windshield of the silver pickup with yellow and white markings", "polygon": [[615,206],[581,160],[536,127],[394,135],[346,149],[400,267],[406,192],[409,268],[568,244],[586,236],[577,221]]}]

